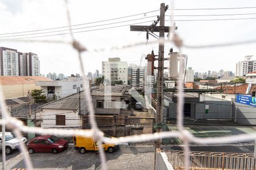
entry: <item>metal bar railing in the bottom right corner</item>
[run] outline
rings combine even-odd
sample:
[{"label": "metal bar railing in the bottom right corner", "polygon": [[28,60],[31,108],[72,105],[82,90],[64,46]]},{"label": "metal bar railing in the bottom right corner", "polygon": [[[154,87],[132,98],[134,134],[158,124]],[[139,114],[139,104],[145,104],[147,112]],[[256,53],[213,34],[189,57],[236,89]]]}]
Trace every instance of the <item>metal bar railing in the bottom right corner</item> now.
[{"label": "metal bar railing in the bottom right corner", "polygon": [[[184,151],[166,152],[168,161],[174,169],[184,169]],[[189,152],[189,169],[255,169],[253,154],[234,154],[222,152]]]}]

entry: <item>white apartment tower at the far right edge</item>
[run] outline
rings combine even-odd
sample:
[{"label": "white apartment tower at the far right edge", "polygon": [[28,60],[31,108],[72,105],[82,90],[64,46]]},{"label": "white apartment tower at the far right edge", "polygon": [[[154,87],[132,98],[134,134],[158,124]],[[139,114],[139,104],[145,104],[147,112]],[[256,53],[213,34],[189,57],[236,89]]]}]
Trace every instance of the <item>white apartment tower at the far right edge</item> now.
[{"label": "white apartment tower at the far right edge", "polygon": [[256,71],[256,60],[251,59],[251,57],[253,56],[245,56],[245,60],[236,64],[236,76],[244,76]]}]

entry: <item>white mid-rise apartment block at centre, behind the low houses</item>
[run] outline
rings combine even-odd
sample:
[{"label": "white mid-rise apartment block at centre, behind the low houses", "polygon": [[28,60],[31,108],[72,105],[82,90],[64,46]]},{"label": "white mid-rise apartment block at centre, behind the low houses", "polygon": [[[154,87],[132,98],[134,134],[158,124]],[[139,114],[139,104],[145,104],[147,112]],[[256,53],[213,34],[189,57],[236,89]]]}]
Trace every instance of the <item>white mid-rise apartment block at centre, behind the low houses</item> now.
[{"label": "white mid-rise apartment block at centre, behind the low houses", "polygon": [[121,61],[120,58],[109,58],[109,61],[102,61],[102,75],[107,80],[106,83],[114,84],[119,80],[123,84],[128,82],[128,65],[126,61]]}]

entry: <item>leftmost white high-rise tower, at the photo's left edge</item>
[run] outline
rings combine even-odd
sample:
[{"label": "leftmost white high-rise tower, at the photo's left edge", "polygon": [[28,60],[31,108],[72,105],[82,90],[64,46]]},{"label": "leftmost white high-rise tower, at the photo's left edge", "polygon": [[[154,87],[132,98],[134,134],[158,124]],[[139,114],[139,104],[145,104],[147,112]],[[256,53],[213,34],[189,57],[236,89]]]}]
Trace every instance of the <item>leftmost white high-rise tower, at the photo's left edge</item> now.
[{"label": "leftmost white high-rise tower, at the photo's left edge", "polygon": [[15,49],[0,47],[1,75],[19,75],[18,52]]}]

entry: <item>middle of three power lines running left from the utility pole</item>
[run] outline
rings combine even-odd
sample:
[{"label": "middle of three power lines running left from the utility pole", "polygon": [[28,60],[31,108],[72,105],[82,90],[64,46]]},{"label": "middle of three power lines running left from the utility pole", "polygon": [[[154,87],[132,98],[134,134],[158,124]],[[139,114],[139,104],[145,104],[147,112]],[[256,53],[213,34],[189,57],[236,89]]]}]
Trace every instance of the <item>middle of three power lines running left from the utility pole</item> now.
[{"label": "middle of three power lines running left from the utility pole", "polygon": [[70,31],[70,30],[77,30],[77,29],[84,29],[84,28],[93,28],[93,27],[100,27],[100,26],[105,26],[105,25],[112,25],[112,24],[125,23],[125,22],[134,21],[134,20],[147,19],[147,18],[152,18],[152,17],[155,17],[155,16],[156,16],[156,15],[154,15],[154,16],[147,16],[147,17],[138,18],[138,19],[124,20],[124,21],[121,21],[121,22],[114,22],[114,23],[108,23],[108,24],[92,25],[92,26],[89,26],[89,27],[80,27],[80,28],[72,28],[72,29],[63,29],[63,30],[57,30],[57,31],[39,32],[39,33],[27,33],[27,34],[23,34],[23,35],[0,36],[0,38],[5,38],[5,37],[17,37],[17,36],[28,36],[28,35],[38,35],[38,34],[44,34],[44,33]]}]

